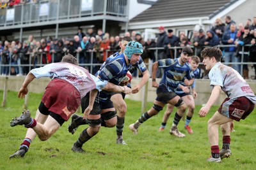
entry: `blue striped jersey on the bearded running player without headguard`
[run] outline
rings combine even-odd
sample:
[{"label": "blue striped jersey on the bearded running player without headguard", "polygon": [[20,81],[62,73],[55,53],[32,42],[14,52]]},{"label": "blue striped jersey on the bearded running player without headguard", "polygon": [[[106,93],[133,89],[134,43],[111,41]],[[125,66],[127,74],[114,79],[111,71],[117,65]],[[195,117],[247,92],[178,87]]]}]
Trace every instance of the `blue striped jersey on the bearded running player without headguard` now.
[{"label": "blue striped jersey on the bearded running player without headguard", "polygon": [[165,85],[169,92],[174,92],[185,79],[193,78],[191,66],[188,63],[181,65],[178,59],[158,60],[158,67],[164,69],[159,85]]}]

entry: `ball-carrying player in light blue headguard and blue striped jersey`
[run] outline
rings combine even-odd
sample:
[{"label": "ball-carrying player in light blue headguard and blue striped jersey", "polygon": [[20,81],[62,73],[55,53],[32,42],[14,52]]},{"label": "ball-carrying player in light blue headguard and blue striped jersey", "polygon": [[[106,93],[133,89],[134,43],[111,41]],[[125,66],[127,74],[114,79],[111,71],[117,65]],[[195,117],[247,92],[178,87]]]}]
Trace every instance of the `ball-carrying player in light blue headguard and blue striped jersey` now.
[{"label": "ball-carrying player in light blue headguard and blue striped jersey", "polygon": [[[96,73],[101,80],[107,80],[115,85],[119,85],[134,64],[140,60],[143,53],[143,46],[131,41],[125,46],[124,53],[115,57],[109,57]],[[74,152],[83,153],[83,144],[95,136],[100,126],[114,127],[116,125],[116,111],[111,99],[111,92],[102,90],[96,96],[93,110],[86,117],[89,127],[81,132],[76,143],[72,146]],[[85,104],[88,104],[89,97],[84,98]]]}]

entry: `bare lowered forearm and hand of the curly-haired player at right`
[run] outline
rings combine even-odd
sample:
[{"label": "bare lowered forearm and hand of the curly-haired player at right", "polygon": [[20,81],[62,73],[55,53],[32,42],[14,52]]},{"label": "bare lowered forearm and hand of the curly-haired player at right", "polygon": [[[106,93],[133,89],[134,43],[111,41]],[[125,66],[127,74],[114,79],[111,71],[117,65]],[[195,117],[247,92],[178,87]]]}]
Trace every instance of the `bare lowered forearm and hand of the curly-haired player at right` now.
[{"label": "bare lowered forearm and hand of the curly-haired player at right", "polygon": [[212,104],[220,97],[221,86],[215,85],[212,89],[211,96],[204,107],[202,107],[199,111],[200,117],[205,117],[209,110],[211,109]]}]

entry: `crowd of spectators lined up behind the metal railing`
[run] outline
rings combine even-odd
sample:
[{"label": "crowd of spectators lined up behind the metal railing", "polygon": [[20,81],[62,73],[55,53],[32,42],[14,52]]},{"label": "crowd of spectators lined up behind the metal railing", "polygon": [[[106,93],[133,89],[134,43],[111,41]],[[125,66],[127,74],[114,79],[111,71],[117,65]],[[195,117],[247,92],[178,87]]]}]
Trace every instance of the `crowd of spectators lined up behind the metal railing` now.
[{"label": "crowd of spectators lined up behind the metal railing", "polygon": [[[13,1],[15,2],[19,1]],[[249,68],[246,62],[256,62],[255,27],[256,17],[253,20],[247,19],[245,24],[236,24],[230,16],[226,16],[225,23],[221,18],[217,18],[210,30],[194,30],[191,37],[188,37],[184,31],[180,31],[179,36],[175,36],[172,29],[166,30],[163,26],[159,26],[159,33],[155,39],[145,41],[143,34],[139,31],[132,31],[131,34],[125,32],[124,36],[131,36],[134,41],[143,45],[144,53],[141,57],[146,64],[149,59],[154,62],[156,57],[157,59],[179,57],[180,50],[184,46],[193,47],[195,55],[200,57],[204,46],[222,45],[221,50],[224,53],[222,61],[248,79]],[[108,32],[102,32],[102,29],[98,29],[95,33],[93,28],[89,28],[85,33],[79,28],[74,38],[52,39],[49,37],[36,41],[33,35],[29,35],[23,42],[9,42],[6,39],[3,42],[0,41],[1,65],[13,66],[1,66],[1,74],[26,75],[29,69],[34,67],[60,62],[66,53],[76,56],[79,64],[94,74],[111,53],[120,50],[121,40],[122,36],[111,36]],[[156,50],[155,47],[160,49]],[[92,66],[92,63],[96,65]],[[20,64],[25,65],[20,66]],[[256,64],[253,64],[253,67],[255,72],[252,77],[256,79]],[[201,69],[204,73],[204,69]],[[159,71],[157,77],[160,76]],[[202,74],[200,78],[203,76],[207,76],[207,73]]]}]

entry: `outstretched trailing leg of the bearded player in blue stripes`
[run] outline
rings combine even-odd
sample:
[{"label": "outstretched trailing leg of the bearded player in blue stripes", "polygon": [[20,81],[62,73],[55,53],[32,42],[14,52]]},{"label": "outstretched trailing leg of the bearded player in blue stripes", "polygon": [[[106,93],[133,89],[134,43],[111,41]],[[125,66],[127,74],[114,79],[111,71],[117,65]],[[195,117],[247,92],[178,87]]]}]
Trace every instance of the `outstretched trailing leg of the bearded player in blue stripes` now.
[{"label": "outstretched trailing leg of the bearded player in blue stripes", "polygon": [[165,103],[161,101],[157,101],[157,99],[154,101],[154,104],[150,110],[146,111],[141,115],[141,117],[134,123],[129,125],[129,129],[133,132],[133,134],[138,134],[138,128],[140,127],[143,122],[147,121],[150,117],[153,117],[154,115],[157,115],[159,111],[163,110],[163,107],[165,106]]}]

